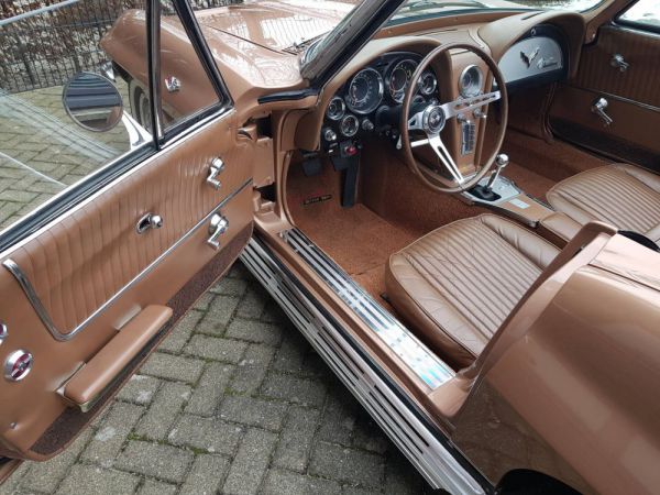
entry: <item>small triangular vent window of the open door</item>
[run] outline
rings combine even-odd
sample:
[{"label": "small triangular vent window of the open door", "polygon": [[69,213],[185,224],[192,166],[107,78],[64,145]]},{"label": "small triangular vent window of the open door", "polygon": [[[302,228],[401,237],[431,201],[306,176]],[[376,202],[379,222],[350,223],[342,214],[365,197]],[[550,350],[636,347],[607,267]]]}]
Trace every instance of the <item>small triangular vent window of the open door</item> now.
[{"label": "small triangular vent window of the open door", "polygon": [[168,129],[219,98],[172,1],[162,0],[161,10],[161,98],[163,127]]}]

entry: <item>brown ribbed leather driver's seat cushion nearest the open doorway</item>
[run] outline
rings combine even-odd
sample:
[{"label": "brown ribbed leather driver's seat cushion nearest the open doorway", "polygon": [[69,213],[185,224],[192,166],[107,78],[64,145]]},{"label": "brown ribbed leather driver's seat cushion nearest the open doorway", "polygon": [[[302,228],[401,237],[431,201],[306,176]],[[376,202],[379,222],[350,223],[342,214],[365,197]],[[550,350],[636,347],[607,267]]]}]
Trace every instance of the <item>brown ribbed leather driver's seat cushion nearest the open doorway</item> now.
[{"label": "brown ribbed leather driver's seat cushion nearest the open doorway", "polygon": [[389,257],[385,284],[431,349],[470,365],[559,250],[494,215],[441,227]]}]

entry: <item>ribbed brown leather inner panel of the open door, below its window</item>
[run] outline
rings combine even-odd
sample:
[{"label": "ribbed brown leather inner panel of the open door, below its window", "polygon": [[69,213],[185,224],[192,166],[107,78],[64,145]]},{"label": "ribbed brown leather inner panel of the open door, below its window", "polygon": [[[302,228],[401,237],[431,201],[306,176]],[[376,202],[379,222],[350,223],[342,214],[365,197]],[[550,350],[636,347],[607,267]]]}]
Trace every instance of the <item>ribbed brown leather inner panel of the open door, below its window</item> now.
[{"label": "ribbed brown leather inner panel of the open door, below its window", "polygon": [[[0,454],[41,460],[65,447],[100,405],[67,409],[57,389],[145,308],[180,317],[235,260],[252,231],[254,146],[233,120],[206,124],[2,253],[0,359],[24,350],[33,366],[19,382],[0,378]],[[219,189],[206,183],[216,157]],[[163,226],[140,234],[148,212]],[[213,215],[228,221],[219,250],[207,243]]]}]

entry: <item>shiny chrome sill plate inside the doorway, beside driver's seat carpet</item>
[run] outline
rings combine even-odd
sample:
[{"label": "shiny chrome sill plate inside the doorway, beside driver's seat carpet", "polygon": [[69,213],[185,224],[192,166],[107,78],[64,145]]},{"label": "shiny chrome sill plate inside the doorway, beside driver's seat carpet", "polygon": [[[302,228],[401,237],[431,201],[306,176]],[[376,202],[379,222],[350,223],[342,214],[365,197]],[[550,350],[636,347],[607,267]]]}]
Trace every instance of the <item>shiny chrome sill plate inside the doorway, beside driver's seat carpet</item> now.
[{"label": "shiny chrome sill plate inside the doorway, beside driver's seat carpet", "polygon": [[282,232],[280,237],[426,385],[437,388],[454,376],[449,365],[355,284],[302,232],[290,229]]}]

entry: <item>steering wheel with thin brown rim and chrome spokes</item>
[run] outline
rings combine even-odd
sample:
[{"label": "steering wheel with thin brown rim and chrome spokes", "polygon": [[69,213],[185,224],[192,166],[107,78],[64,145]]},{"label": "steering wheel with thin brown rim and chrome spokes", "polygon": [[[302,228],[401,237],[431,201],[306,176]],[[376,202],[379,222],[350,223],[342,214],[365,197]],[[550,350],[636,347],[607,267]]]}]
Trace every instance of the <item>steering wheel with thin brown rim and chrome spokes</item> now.
[{"label": "steering wheel with thin brown rim and chrome spokes", "polygon": [[[414,107],[413,99],[417,92],[417,84],[414,81],[419,80],[421,74],[426,68],[438,58],[440,55],[449,52],[450,50],[466,50],[477,55],[482,61],[486,63],[493,78],[497,82],[497,90],[481,94],[474,97],[462,98],[459,97],[454,101],[447,103],[430,103],[425,108]],[[440,136],[441,131],[446,124],[452,119],[458,119],[459,116],[465,118],[472,117],[474,110],[481,110],[482,114],[486,114],[486,108],[488,103],[494,101],[501,101],[502,109],[502,122],[499,124],[498,135],[496,145],[493,154],[484,162],[477,172],[465,177],[459,166],[457,165],[453,156],[442,142]],[[408,168],[427,186],[439,193],[462,193],[466,189],[474,187],[493,167],[495,157],[506,133],[506,124],[508,117],[508,99],[506,94],[506,84],[504,77],[499,72],[499,67],[495,61],[480,47],[470,43],[448,43],[433,48],[428,53],[426,57],[417,66],[417,70],[410,78],[410,84],[406,89],[406,96],[404,98],[402,120],[399,123],[402,145],[404,152],[404,158],[408,165]],[[426,139],[419,139],[411,141],[410,133],[426,134]],[[444,166],[451,178],[444,177],[442,174],[431,169],[427,165],[419,163],[413,153],[413,148],[417,146],[428,145],[430,146],[439,158],[439,162]],[[476,166],[477,164],[475,164]]]}]

